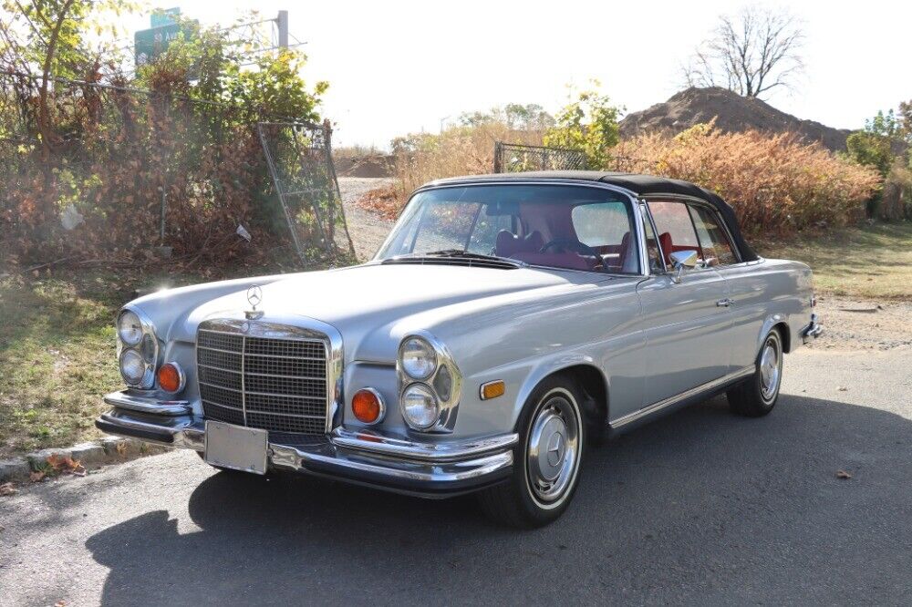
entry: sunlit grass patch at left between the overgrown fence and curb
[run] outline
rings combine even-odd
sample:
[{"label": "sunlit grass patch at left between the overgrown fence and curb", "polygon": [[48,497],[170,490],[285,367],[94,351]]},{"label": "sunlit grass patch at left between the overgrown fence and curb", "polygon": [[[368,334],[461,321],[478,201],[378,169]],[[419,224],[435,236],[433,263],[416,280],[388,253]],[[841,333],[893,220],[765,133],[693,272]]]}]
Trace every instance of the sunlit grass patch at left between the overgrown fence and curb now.
[{"label": "sunlit grass patch at left between the overgrown fence and curb", "polygon": [[0,457],[97,436],[101,396],[121,381],[113,319],[130,291],[104,275],[0,280]]}]

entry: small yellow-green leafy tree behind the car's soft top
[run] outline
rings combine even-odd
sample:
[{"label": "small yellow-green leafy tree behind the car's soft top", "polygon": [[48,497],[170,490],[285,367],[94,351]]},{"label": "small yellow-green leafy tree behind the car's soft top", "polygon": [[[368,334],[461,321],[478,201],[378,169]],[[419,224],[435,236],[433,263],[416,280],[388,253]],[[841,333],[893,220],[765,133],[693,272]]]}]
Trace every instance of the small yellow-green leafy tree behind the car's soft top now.
[{"label": "small yellow-green leafy tree behind the car's soft top", "polygon": [[546,146],[583,150],[591,169],[606,167],[611,159],[611,149],[620,141],[617,118],[623,111],[598,87],[599,83],[593,80],[591,88],[571,97],[557,113],[557,124],[543,138]]}]

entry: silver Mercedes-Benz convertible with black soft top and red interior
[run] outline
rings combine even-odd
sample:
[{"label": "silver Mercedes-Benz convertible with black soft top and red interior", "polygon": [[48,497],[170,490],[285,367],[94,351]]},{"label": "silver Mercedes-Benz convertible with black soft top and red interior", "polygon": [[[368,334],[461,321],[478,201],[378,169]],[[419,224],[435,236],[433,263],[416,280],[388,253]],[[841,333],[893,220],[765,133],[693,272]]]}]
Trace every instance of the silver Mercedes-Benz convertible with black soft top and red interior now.
[{"label": "silver Mercedes-Benz convertible with black soft top and red interior", "polygon": [[376,257],[140,297],[103,431],[216,468],[555,520],[590,443],[724,392],[766,415],[821,333],[811,270],[751,251],[719,196],[546,172],[434,181]]}]

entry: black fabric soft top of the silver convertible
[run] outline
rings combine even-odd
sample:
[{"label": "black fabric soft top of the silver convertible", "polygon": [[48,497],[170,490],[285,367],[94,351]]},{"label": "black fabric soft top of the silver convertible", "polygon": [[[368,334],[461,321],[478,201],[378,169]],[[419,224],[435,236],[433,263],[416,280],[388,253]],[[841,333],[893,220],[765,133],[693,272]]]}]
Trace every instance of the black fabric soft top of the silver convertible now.
[{"label": "black fabric soft top of the silver convertible", "polygon": [[440,185],[466,185],[477,184],[492,181],[513,181],[513,180],[571,180],[571,181],[601,181],[609,183],[618,188],[630,190],[637,196],[645,198],[660,196],[662,194],[671,194],[677,196],[689,196],[692,198],[706,201],[715,207],[722,216],[722,219],[728,224],[731,238],[734,240],[735,247],[741,253],[741,261],[753,262],[758,259],[757,253],[753,252],[751,245],[744,241],[741,236],[741,228],[738,226],[738,220],[735,218],[735,211],[731,206],[723,201],[720,196],[710,190],[704,190],[698,185],[689,181],[669,180],[664,177],[655,175],[634,175],[631,173],[616,173],[604,170],[540,170],[528,173],[494,173],[492,175],[470,175],[467,177],[451,177],[444,180],[431,181],[426,184],[425,188]]}]

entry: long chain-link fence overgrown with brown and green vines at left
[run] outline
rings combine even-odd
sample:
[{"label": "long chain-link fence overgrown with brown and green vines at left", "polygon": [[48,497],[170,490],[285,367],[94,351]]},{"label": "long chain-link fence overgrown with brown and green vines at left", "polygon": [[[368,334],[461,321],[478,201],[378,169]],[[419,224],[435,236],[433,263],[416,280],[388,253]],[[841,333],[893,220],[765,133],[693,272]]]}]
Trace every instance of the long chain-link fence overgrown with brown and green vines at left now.
[{"label": "long chain-link fence overgrown with brown and green vines at left", "polygon": [[354,259],[328,123],[55,77],[43,127],[39,84],[0,73],[4,261]]}]

